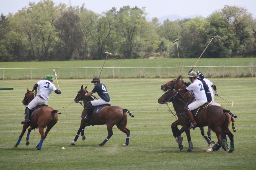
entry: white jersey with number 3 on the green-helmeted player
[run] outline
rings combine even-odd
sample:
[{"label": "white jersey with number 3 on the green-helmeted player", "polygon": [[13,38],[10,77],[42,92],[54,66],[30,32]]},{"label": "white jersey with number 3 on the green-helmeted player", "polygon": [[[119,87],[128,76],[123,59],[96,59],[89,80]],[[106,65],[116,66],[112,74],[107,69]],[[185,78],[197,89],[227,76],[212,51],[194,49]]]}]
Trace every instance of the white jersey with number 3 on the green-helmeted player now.
[{"label": "white jersey with number 3 on the green-helmeted player", "polygon": [[37,84],[39,86],[37,95],[40,95],[45,100],[49,99],[51,91],[55,91],[57,89],[49,80],[40,80]]}]

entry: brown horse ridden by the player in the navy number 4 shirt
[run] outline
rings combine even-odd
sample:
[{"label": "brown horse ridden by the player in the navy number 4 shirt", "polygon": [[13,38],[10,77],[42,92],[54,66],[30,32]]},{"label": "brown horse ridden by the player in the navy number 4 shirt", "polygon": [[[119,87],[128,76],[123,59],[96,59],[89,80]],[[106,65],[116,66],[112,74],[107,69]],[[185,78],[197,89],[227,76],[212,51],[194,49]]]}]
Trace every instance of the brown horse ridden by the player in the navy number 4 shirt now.
[{"label": "brown horse ridden by the player in the navy number 4 shirt", "polygon": [[[83,88],[83,85],[81,86],[81,89],[77,92],[77,96],[74,98],[74,101],[76,103],[83,100],[83,103],[86,104],[88,101],[94,100],[91,96],[84,96],[84,94],[88,93],[86,88],[87,86],[85,88]],[[72,141],[71,145],[75,145],[81,131],[82,131],[81,133],[82,140],[85,140],[84,128],[86,126],[106,124],[108,129],[108,136],[98,146],[105,145],[105,143],[110,139],[110,137],[113,135],[112,128],[114,125],[116,125],[123,133],[126,134],[126,142],[125,144],[123,144],[123,146],[128,146],[129,140],[130,140],[130,130],[126,128],[126,125],[127,125],[126,112],[129,113],[130,116],[134,117],[133,114],[127,109],[122,109],[119,106],[107,106],[107,107],[104,107],[99,114],[92,114],[91,123],[86,123],[85,116],[87,115],[87,110],[86,108],[84,108],[81,115],[82,119],[80,123],[80,128],[78,129],[77,135]]]}]

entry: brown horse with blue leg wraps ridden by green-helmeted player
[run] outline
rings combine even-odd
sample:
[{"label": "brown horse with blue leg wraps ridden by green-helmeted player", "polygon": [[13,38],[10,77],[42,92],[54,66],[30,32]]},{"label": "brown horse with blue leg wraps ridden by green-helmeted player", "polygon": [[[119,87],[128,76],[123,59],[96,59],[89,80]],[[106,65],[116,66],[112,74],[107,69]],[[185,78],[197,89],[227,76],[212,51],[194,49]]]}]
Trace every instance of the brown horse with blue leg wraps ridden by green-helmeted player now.
[{"label": "brown horse with blue leg wraps ridden by green-helmeted player", "polygon": [[[22,103],[25,106],[27,106],[34,99],[35,93],[33,93],[33,91],[30,91],[27,88],[27,92],[22,101]],[[36,111],[36,113],[34,114],[34,116],[30,117],[30,124],[23,124],[22,132],[19,136],[18,141],[14,145],[14,147],[15,148],[18,147],[20,140],[22,139],[24,133],[26,132],[26,129],[30,126],[30,128],[28,129],[28,134],[27,134],[27,138],[26,138],[26,146],[29,145],[29,136],[30,136],[31,130],[38,128],[39,133],[41,135],[41,140],[38,143],[38,145],[36,146],[36,150],[40,150],[47,134],[49,133],[51,128],[58,122],[58,114],[61,114],[61,113],[58,110],[54,110],[53,108],[48,107],[48,106],[44,106],[44,107],[41,107],[40,109],[38,109]],[[46,126],[47,126],[47,128],[44,133],[44,128]]]}]

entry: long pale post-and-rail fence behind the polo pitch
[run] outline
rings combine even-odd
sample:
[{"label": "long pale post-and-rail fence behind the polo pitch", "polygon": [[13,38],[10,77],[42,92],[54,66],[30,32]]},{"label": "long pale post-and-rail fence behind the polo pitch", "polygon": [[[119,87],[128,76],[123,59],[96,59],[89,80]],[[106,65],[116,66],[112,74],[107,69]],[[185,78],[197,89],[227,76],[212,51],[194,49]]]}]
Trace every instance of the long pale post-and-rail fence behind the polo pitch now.
[{"label": "long pale post-and-rail fence behind the polo pitch", "polygon": [[[239,68],[239,67],[247,67],[247,68],[251,68],[250,69],[250,74],[251,77],[253,77],[255,75],[253,68],[256,66],[195,66],[194,69],[196,68],[223,68],[223,78],[225,77],[225,68],[230,68],[230,67],[234,67],[234,68]],[[169,69],[177,69],[179,67],[104,67],[104,69],[112,69],[112,78],[114,79],[114,69],[140,69],[140,78],[142,77],[142,69],[143,68],[147,68],[147,69],[161,69],[161,68],[166,68],[167,69],[167,78],[169,78]],[[192,66],[186,66],[186,67],[181,67],[181,68],[192,68]],[[101,67],[79,67],[79,68],[0,68],[3,70],[3,80],[4,80],[4,70],[24,70],[24,69],[30,69],[30,79],[32,79],[32,70],[38,70],[38,69],[55,69],[58,70],[58,75],[60,75],[60,70],[62,69],[85,69],[85,78],[87,79],[87,69],[101,69]],[[61,76],[58,77],[58,79],[61,79]]]}]

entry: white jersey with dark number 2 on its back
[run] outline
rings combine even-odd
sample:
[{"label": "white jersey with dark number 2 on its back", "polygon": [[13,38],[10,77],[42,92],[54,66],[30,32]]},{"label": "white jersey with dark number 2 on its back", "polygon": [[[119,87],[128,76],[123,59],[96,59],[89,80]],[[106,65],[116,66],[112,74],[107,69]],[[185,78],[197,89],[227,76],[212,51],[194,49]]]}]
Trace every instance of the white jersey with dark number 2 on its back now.
[{"label": "white jersey with dark number 2 on its back", "polygon": [[200,80],[195,80],[193,83],[191,83],[187,90],[193,91],[195,99],[196,100],[205,100],[207,102],[204,86]]}]

